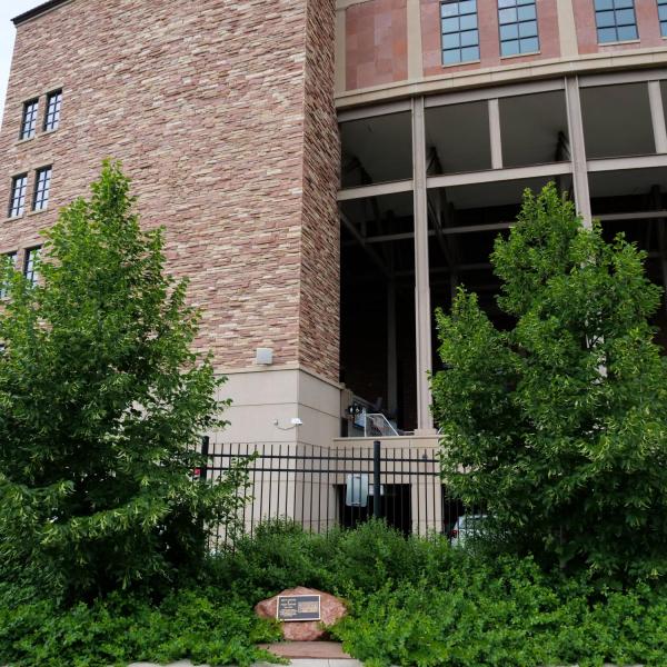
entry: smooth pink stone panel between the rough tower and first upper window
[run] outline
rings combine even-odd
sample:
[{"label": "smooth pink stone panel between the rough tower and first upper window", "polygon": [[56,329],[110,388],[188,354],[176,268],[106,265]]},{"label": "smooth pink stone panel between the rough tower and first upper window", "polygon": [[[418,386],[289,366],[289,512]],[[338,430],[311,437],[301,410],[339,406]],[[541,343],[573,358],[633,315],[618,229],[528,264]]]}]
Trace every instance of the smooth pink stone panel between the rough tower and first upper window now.
[{"label": "smooth pink stone panel between the rough tower and first upper window", "polygon": [[346,12],[348,90],[408,77],[406,0],[370,0]]}]

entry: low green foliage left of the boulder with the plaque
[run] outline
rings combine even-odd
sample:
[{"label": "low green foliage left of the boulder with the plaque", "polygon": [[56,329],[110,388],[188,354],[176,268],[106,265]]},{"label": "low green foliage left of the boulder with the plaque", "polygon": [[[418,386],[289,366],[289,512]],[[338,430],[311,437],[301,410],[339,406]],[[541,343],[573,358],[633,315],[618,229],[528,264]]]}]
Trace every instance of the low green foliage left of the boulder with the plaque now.
[{"label": "low green foliage left of the boulder with the plaque", "polygon": [[280,636],[275,623],[217,590],[181,590],[160,604],[112,594],[68,609],[40,600],[0,607],[0,660],[12,667],[107,667],[131,661],[250,665],[271,660],[255,645]]}]

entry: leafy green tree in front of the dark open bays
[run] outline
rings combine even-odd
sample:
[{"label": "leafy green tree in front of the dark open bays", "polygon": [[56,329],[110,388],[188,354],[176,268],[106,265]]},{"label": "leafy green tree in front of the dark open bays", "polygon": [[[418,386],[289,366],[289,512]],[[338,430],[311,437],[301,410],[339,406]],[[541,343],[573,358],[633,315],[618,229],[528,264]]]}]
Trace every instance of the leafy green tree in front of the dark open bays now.
[{"label": "leafy green tree in front of the dark open bays", "polygon": [[446,482],[500,541],[607,580],[667,570],[667,365],[645,257],[549,185],[491,255],[514,327],[462,289],[436,315]]}]

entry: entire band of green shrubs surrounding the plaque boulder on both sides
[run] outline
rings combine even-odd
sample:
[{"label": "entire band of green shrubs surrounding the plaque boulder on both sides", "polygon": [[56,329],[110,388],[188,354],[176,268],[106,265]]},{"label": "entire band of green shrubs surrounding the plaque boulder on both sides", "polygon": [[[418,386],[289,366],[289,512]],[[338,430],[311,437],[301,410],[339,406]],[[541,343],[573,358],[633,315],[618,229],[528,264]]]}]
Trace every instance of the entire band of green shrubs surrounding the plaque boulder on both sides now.
[{"label": "entire band of green shrubs surrounding the plaque boulder on both sides", "polygon": [[663,667],[667,655],[664,588],[600,589],[586,573],[565,578],[531,558],[485,559],[439,536],[405,539],[382,522],[323,536],[273,521],[205,563],[198,581],[155,600],[117,591],[59,607],[34,588],[0,587],[0,664],[248,665],[268,658],[255,643],[279,636],[252,605],[295,585],[346,596],[349,616],[332,634],[371,666]]}]

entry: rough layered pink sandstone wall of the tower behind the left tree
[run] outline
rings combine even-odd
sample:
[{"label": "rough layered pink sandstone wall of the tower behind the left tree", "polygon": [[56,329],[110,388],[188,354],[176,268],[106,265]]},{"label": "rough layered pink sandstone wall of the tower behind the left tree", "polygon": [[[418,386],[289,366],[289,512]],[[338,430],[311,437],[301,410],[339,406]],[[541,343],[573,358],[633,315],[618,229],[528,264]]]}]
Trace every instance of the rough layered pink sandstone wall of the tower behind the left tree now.
[{"label": "rough layered pink sandstone wall of the tower behind the left tree", "polygon": [[[120,158],[145,226],[167,228],[169,269],[205,307],[198,345],[217,366],[272,347],[275,364],[336,380],[338,139],[332,56],[321,56],[332,30],[334,0],[76,0],[21,24],[0,205],[12,175],[30,172],[28,201],[34,168],[52,163],[53,179],[47,212],[0,212],[0,252],[39,243],[101,160]],[[42,96],[41,117],[60,86],[60,129],[18,142],[22,102]]]}]

